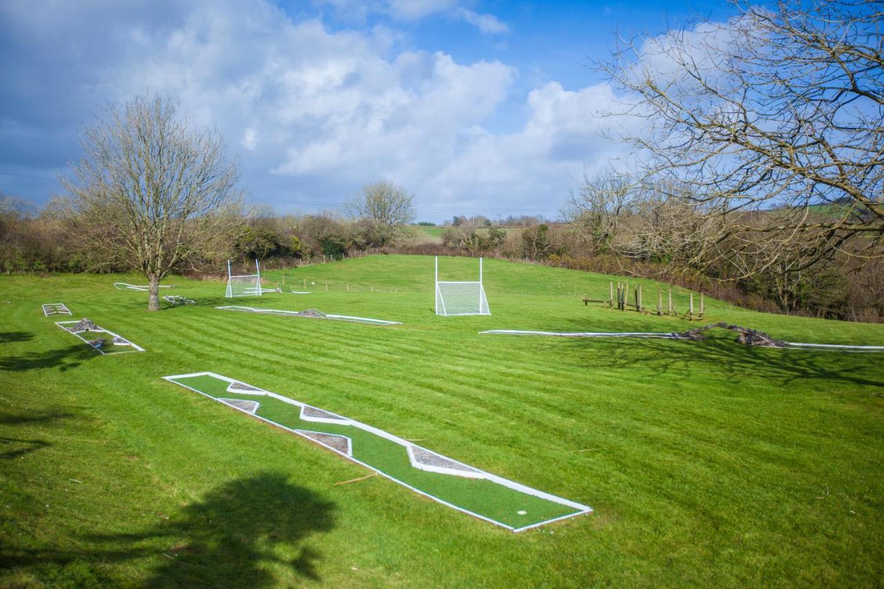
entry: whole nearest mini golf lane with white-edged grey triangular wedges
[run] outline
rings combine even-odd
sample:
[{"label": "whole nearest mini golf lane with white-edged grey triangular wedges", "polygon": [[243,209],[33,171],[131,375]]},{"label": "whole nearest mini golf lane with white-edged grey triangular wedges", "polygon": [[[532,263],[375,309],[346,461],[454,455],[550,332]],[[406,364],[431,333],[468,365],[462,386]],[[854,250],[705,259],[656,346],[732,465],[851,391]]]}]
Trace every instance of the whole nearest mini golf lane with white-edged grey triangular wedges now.
[{"label": "whole nearest mini golf lane with white-edged grey triangular wedges", "polygon": [[513,532],[592,511],[240,380],[214,372],[163,378],[328,448],[433,501]]}]

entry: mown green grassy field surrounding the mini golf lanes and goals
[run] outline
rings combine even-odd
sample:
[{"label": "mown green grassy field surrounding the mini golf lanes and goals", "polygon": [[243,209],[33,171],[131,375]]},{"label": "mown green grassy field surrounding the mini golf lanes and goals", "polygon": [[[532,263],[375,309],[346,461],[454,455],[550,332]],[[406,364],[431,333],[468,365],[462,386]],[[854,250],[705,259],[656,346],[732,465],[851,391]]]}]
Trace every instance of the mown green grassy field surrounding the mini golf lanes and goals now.
[{"label": "mown green grassy field surrounding the mini golf lanes and goals", "polygon": [[[446,279],[476,261],[440,260]],[[266,272],[311,295],[148,313],[134,276],[0,278],[0,585],[851,585],[884,579],[884,356],[705,342],[479,335],[676,331],[584,307],[600,275],[485,262],[492,317],[436,317],[432,258]],[[328,281],[325,291],[319,284]],[[346,292],[340,285],[397,292]],[[653,290],[650,282],[644,286]],[[679,298],[683,301],[683,298]],[[65,302],[147,349],[101,356],[43,317]],[[683,310],[683,306],[682,306]],[[884,325],[707,300],[804,342],[881,344]],[[590,505],[515,534],[161,379],[215,371]]]}]

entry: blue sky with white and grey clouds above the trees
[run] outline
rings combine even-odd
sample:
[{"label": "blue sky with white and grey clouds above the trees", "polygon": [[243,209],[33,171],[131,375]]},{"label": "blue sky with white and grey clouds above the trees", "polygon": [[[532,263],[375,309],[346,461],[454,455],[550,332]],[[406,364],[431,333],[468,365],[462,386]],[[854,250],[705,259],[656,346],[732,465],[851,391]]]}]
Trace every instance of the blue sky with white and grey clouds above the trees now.
[{"label": "blue sky with white and grey clouds above the trees", "polygon": [[36,205],[110,102],[169,95],[220,131],[252,203],[340,210],[375,180],[418,220],[556,218],[629,162],[593,64],[618,35],[724,20],[725,2],[4,0],[0,193]]}]

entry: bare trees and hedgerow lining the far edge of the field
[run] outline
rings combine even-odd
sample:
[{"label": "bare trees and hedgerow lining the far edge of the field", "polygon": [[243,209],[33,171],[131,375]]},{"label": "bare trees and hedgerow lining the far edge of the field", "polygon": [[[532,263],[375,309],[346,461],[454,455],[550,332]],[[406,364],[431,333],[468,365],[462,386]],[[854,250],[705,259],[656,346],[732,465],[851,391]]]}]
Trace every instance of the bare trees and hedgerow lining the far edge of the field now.
[{"label": "bare trees and hedgerow lining the far edge of the field", "polygon": [[[880,3],[737,3],[726,23],[639,36],[597,67],[641,124],[636,157],[584,175],[555,222],[481,215],[415,243],[414,196],[379,180],[342,214],[247,209],[213,131],[164,96],[111,104],[82,134],[66,195],[0,199],[0,267],[136,270],[149,308],[169,272],[226,257],[431,249],[526,258],[702,287],[761,310],[884,317]],[[591,113],[587,113],[591,116]]]}]

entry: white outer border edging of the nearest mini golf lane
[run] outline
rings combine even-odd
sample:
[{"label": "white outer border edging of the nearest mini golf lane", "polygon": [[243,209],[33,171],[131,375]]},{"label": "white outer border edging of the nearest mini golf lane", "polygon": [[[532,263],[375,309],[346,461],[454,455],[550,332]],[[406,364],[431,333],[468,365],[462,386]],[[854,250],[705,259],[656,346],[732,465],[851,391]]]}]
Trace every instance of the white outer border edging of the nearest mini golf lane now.
[{"label": "white outer border edging of the nearest mini golf lane", "polygon": [[[171,382],[175,385],[183,386],[187,389],[190,389],[191,391],[194,391],[194,393],[202,394],[205,397],[209,397],[213,401],[222,403],[225,407],[232,407],[232,405],[228,405],[225,402],[218,401],[217,397],[213,397],[212,395],[210,395],[208,393],[203,393],[202,391],[195,389],[193,386],[187,386],[186,384],[180,383],[175,380],[175,379],[188,379],[188,378],[194,378],[194,377],[200,377],[200,376],[210,376],[214,379],[224,380],[225,382],[228,382],[231,384],[233,382],[242,382],[241,380],[234,381],[234,379],[222,376],[220,374],[217,374],[216,372],[211,372],[211,371],[191,372],[189,374],[174,374],[171,376],[165,376],[165,377],[163,377],[163,379],[168,380],[169,382]],[[248,384],[248,383],[243,383],[243,384]],[[249,386],[254,386],[254,385],[249,385]],[[306,405],[306,403],[294,401],[293,399],[289,399],[288,397],[284,397],[281,394],[271,393],[270,391],[264,390],[263,388],[260,388],[257,386],[255,386],[255,388],[258,390],[251,391],[251,392],[249,392],[249,394],[264,394],[264,395],[267,395],[267,396],[272,397],[274,399],[277,399],[278,401],[286,402],[290,405],[295,405],[295,406],[301,407],[301,408]],[[310,407],[313,407],[313,406],[310,405]],[[382,477],[389,478],[394,483],[398,483],[399,485],[404,486],[404,487],[414,491],[415,493],[422,494],[424,497],[427,497],[433,501],[438,501],[439,503],[441,503],[447,507],[450,507],[451,509],[456,509],[458,511],[461,511],[462,513],[466,513],[470,516],[477,517],[477,518],[484,520],[486,522],[489,522],[491,524],[499,525],[500,527],[506,528],[507,530],[510,530],[512,532],[522,532],[524,530],[530,530],[531,528],[536,528],[541,525],[552,524],[552,522],[558,522],[559,520],[562,520],[562,519],[568,519],[568,517],[583,516],[585,514],[592,513],[592,508],[587,505],[583,505],[582,503],[577,503],[576,501],[570,501],[568,499],[565,499],[563,497],[559,497],[557,495],[553,495],[551,493],[545,493],[543,491],[538,491],[537,489],[533,489],[530,486],[521,485],[521,484],[516,483],[516,482],[509,480],[507,478],[502,478],[497,475],[494,475],[490,472],[486,472],[484,470],[477,469],[475,467],[469,467],[469,468],[476,470],[481,475],[481,477],[476,477],[476,478],[484,478],[486,480],[492,481],[493,483],[497,483],[500,486],[506,486],[509,489],[513,489],[514,491],[519,491],[520,493],[533,495],[534,497],[538,497],[538,498],[544,499],[546,501],[552,501],[553,503],[559,503],[560,505],[564,505],[566,507],[578,510],[575,513],[567,514],[565,516],[553,517],[552,519],[547,519],[542,522],[537,522],[536,524],[524,525],[519,528],[514,528],[511,525],[504,524],[503,522],[499,522],[497,520],[494,520],[491,517],[483,516],[483,515],[477,514],[474,511],[470,511],[469,509],[464,509],[464,508],[461,508],[457,505],[454,505],[453,503],[449,503],[448,501],[445,501],[444,499],[440,499],[439,497],[436,497],[435,495],[431,495],[430,493],[422,491],[415,486],[408,485],[408,483],[401,481],[398,478],[392,477],[392,475],[389,475],[381,470],[377,470],[377,468],[371,466],[370,464],[363,463],[361,460],[359,460],[358,458],[354,458],[354,456],[352,456],[352,455],[344,455],[341,452],[339,452],[339,450],[336,450],[333,447],[330,447],[330,446],[328,446],[318,440],[314,440],[312,438],[309,438],[309,437],[299,433],[298,430],[294,430],[290,427],[287,427],[286,425],[278,424],[275,421],[271,421],[270,419],[267,419],[266,417],[261,417],[259,415],[254,415],[254,414],[248,413],[248,411],[245,411],[243,409],[239,409],[237,407],[232,407],[232,409],[240,411],[241,413],[245,413],[246,415],[250,415],[252,417],[255,417],[256,419],[260,419],[263,422],[266,422],[268,424],[280,427],[280,428],[286,430],[286,432],[292,432],[295,435],[301,436],[301,438],[304,438],[305,440],[310,440],[311,442],[313,442],[315,444],[319,444],[320,446],[326,447],[326,448],[330,449],[332,452],[334,452],[335,454],[344,456],[345,458],[347,458],[348,460],[350,460],[354,463],[360,464],[369,470],[377,472],[377,474],[381,475]],[[412,444],[408,440],[403,440],[399,436],[395,436],[392,433],[385,432],[383,430],[378,430],[376,427],[372,427],[370,425],[366,425],[366,424],[363,424],[362,422],[354,421],[352,419],[348,419],[347,421],[349,422],[349,425],[353,425],[354,427],[357,427],[364,432],[374,433],[375,435],[380,436],[380,437],[384,438],[385,440],[390,440],[392,442],[399,444],[400,446],[406,447],[407,452],[408,452],[409,446],[414,446],[414,444]],[[337,435],[337,434],[331,434],[331,435]],[[426,450],[426,448],[423,448],[423,447],[421,447],[421,448]],[[427,450],[427,452],[432,452],[432,450]],[[436,453],[433,452],[433,454],[436,454]],[[447,458],[447,456],[443,456],[443,457]],[[410,458],[410,455],[409,455],[409,458]],[[448,458],[448,460],[452,460],[452,459]],[[452,460],[452,462],[456,463],[458,461]],[[465,464],[464,466],[468,466],[468,465]],[[445,474],[450,474],[450,473],[445,473]],[[463,475],[461,474],[460,476],[463,476]]]}]

